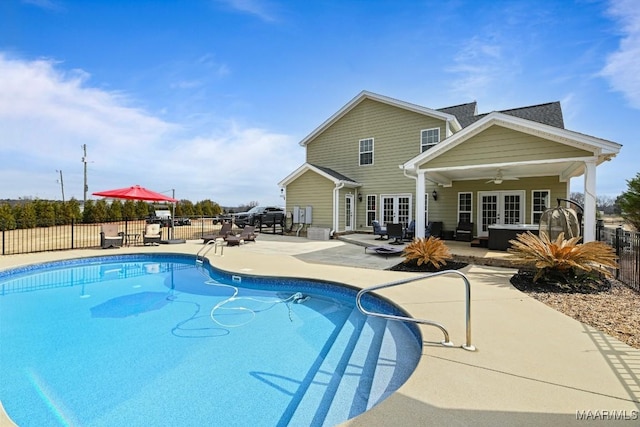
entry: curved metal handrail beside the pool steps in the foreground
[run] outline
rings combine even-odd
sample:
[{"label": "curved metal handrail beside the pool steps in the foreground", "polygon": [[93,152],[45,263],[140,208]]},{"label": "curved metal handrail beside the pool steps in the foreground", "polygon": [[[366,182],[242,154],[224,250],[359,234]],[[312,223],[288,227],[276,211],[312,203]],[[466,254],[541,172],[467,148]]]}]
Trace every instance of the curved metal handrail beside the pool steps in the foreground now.
[{"label": "curved metal handrail beside the pool steps in the foreground", "polygon": [[449,332],[447,332],[447,330],[445,329],[444,326],[442,326],[440,323],[434,322],[432,320],[426,320],[426,319],[416,319],[413,317],[407,317],[407,316],[396,316],[393,314],[384,314],[384,313],[375,313],[375,312],[371,312],[366,310],[363,306],[362,306],[362,296],[364,294],[367,294],[369,292],[378,290],[378,289],[384,289],[384,288],[390,288],[392,286],[398,286],[398,285],[403,285],[405,283],[410,283],[410,282],[416,282],[418,280],[422,280],[422,279],[431,279],[433,277],[437,277],[437,276],[442,276],[444,274],[456,274],[460,277],[462,277],[462,280],[464,281],[465,284],[465,289],[466,289],[466,295],[465,295],[465,299],[466,299],[466,307],[465,307],[465,315],[466,315],[466,330],[467,330],[467,337],[466,337],[466,343],[462,346],[462,348],[464,348],[465,350],[469,350],[469,351],[475,351],[476,348],[471,344],[471,284],[469,283],[469,279],[467,279],[467,276],[465,276],[463,273],[460,273],[457,270],[445,270],[445,271],[438,271],[435,273],[429,273],[429,274],[424,274],[421,276],[417,276],[417,277],[409,277],[406,279],[400,279],[400,280],[396,280],[393,282],[389,282],[389,283],[384,283],[382,285],[374,285],[374,286],[370,286],[368,288],[362,289],[360,292],[358,292],[358,294],[356,295],[356,306],[358,307],[358,310],[360,310],[362,313],[368,315],[368,316],[375,316],[375,317],[382,317],[384,319],[391,319],[391,320],[398,320],[401,322],[411,322],[411,323],[420,323],[423,325],[429,325],[429,326],[435,326],[436,328],[440,329],[442,331],[442,333],[444,334],[444,341],[442,341],[442,345],[446,345],[446,346],[453,346],[453,343],[449,340]]}]

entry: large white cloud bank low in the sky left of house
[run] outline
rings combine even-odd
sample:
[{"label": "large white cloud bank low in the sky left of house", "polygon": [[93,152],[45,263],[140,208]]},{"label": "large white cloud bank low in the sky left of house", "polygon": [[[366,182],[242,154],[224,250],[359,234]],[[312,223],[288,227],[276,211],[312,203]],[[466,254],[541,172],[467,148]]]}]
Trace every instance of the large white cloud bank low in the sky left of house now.
[{"label": "large white cloud bank low in the sky left of house", "polygon": [[67,198],[82,199],[86,144],[90,193],[140,184],[194,202],[278,202],[276,183],[303,162],[295,141],[220,117],[211,118],[214,126],[194,133],[136,108],[129,96],[91,87],[83,71],[0,53],[0,157],[8,160],[0,199],[59,199],[56,170]]}]

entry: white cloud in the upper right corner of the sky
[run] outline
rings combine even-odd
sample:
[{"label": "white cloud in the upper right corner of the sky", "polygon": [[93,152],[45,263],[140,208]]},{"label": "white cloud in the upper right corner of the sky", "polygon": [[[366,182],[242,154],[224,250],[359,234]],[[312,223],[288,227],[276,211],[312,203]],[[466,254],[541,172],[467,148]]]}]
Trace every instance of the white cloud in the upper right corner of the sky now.
[{"label": "white cloud in the upper right corner of the sky", "polygon": [[633,108],[640,108],[640,7],[637,0],[612,0],[608,13],[620,26],[622,38],[601,74]]}]

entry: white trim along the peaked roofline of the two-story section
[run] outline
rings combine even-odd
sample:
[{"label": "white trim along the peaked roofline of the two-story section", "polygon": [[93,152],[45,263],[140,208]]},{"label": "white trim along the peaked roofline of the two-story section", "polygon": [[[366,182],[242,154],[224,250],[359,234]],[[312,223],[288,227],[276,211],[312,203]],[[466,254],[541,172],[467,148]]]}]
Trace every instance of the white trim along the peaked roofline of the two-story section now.
[{"label": "white trim along the peaked roofline of the two-story section", "polygon": [[376,93],[363,90],[355,98],[349,101],[344,107],[338,110],[338,112],[336,112],[334,115],[329,117],[324,123],[322,123],[315,130],[313,130],[313,132],[307,135],[302,141],[300,141],[300,145],[303,147],[306,146],[319,134],[324,132],[329,126],[331,126],[332,124],[340,120],[345,114],[353,110],[358,104],[360,104],[365,99],[370,99],[372,101],[381,102],[387,105],[392,105],[394,107],[402,108],[408,111],[413,111],[414,113],[424,114],[426,116],[444,120],[446,122],[449,122],[451,124],[451,128],[456,132],[462,129],[462,126],[458,122],[458,119],[453,114],[443,112],[443,111],[433,110],[431,108],[422,107],[420,105],[411,104],[410,102],[400,101],[398,99],[389,98],[388,96],[378,95]]}]

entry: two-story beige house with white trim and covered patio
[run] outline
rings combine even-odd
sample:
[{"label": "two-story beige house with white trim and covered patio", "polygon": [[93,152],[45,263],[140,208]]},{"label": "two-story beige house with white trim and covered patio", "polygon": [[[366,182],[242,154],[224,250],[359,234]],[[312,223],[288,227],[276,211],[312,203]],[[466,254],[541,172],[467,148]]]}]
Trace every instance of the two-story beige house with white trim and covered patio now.
[{"label": "two-story beige house with white trim and covered patio", "polygon": [[564,128],[559,102],[477,114],[363,91],[304,138],[306,162],[278,185],[287,211],[333,233],[415,220],[453,230],[537,224],[584,177],[584,240],[595,239],[596,166],[621,145]]}]

